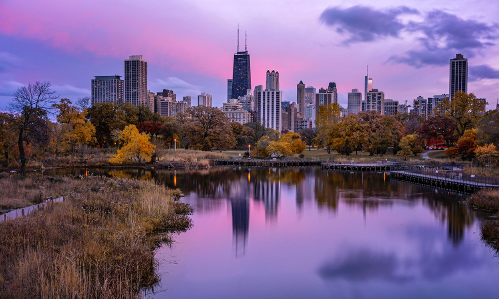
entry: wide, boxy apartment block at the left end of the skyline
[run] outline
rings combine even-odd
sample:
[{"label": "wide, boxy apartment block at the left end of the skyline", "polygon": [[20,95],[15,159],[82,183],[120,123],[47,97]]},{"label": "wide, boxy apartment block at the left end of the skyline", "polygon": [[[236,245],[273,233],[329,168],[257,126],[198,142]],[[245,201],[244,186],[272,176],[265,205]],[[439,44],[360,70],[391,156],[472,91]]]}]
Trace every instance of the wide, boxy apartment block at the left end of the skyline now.
[{"label": "wide, boxy apartment block at the left end of the skyline", "polygon": [[92,105],[98,103],[123,103],[121,76],[95,76],[92,79]]}]

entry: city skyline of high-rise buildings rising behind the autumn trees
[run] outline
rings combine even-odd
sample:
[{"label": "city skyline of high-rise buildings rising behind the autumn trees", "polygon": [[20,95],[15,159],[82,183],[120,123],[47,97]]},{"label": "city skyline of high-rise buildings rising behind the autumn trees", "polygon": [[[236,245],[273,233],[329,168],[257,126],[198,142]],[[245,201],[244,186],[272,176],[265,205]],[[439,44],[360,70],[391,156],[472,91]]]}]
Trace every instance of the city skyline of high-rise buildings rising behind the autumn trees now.
[{"label": "city skyline of high-rise buildings rising behind the autumn trees", "polygon": [[[147,61],[142,55],[131,55],[125,60],[123,80],[121,76],[96,76],[92,79],[92,104],[129,103],[146,106],[161,116],[177,117],[191,107],[191,96],[183,96],[177,101],[173,90],[163,89],[153,93],[147,87]],[[452,99],[458,91],[468,92],[468,59],[462,54],[450,59],[449,93],[424,98],[419,96],[403,103],[385,98],[385,92],[374,88],[373,78],[367,72],[364,78],[364,94],[359,89],[348,92],[347,107],[339,106],[341,116],[358,114],[362,111],[377,111],[381,115],[415,113],[423,118],[431,116],[432,111],[444,99]],[[486,99],[480,99],[486,102]],[[239,47],[234,54],[232,78],[227,80],[227,103],[221,111],[230,122],[246,124],[258,122],[267,128],[281,133],[299,132],[315,127],[320,106],[338,104],[336,82],[329,82],[327,88],[306,86],[302,80],[296,85],[296,102],[283,101],[279,88],[279,72],[267,70],[265,86],[257,85],[251,89],[250,54],[247,43],[245,49]],[[198,106],[213,106],[212,95],[203,92],[198,95]],[[499,109],[499,100],[498,106]],[[485,111],[484,111],[485,112]]]}]

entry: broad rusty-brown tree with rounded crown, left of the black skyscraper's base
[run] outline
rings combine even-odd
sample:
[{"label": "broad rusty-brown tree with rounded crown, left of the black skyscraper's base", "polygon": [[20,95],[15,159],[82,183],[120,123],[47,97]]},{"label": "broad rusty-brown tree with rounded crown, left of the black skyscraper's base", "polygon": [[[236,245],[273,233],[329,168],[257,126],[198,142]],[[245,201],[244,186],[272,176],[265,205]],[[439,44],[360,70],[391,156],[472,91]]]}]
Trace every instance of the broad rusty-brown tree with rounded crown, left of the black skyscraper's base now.
[{"label": "broad rusty-brown tree with rounded crown, left of the black skyscraper's base", "polygon": [[231,149],[236,145],[229,120],[220,109],[206,106],[189,108],[182,117],[185,134],[196,149]]}]

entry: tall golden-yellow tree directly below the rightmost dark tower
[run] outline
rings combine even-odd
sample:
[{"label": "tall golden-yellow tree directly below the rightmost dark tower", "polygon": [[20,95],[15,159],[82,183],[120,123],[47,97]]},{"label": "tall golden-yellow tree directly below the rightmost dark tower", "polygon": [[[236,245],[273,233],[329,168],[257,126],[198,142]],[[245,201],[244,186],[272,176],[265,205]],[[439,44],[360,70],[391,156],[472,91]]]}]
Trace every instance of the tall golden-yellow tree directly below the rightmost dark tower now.
[{"label": "tall golden-yellow tree directly below the rightmost dark tower", "polygon": [[444,99],[437,108],[445,111],[445,115],[456,122],[456,132],[463,136],[466,130],[475,128],[485,113],[486,105],[487,103],[477,99],[473,93],[458,91],[452,101]]}]

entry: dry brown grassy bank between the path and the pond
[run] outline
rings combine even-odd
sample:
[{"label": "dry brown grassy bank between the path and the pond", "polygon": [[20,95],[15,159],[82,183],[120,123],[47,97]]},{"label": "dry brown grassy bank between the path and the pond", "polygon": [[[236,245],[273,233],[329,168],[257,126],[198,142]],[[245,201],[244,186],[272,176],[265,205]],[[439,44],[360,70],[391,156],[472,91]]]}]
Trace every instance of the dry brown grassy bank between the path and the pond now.
[{"label": "dry brown grassy bank between the path and the pond", "polygon": [[0,224],[0,297],[141,298],[159,279],[154,248],[192,208],[146,181],[64,180],[64,202]]}]

